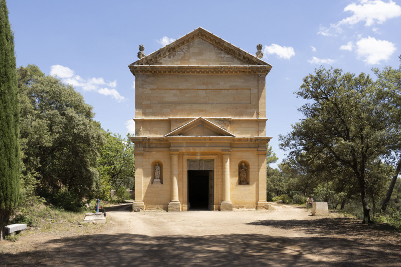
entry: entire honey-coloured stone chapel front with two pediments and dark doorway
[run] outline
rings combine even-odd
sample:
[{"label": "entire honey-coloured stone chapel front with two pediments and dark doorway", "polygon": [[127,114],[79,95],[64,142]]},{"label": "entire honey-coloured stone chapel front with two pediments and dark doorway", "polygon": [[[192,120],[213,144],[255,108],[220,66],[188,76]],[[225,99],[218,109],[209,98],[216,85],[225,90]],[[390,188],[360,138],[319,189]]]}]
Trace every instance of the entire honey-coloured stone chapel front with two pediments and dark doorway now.
[{"label": "entire honey-coloured stone chapel front with two pediments and dark doorway", "polygon": [[134,211],[267,208],[272,66],[198,28],[129,65],[135,76]]}]

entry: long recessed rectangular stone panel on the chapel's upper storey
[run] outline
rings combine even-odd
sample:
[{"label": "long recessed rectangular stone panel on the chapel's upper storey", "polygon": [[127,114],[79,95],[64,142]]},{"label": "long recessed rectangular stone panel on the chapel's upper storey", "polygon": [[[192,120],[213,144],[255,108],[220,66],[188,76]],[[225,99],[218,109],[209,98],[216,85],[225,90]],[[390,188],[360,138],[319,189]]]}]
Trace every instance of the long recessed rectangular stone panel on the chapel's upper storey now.
[{"label": "long recessed rectangular stone panel on the chapel's upper storey", "polygon": [[251,104],[251,89],[150,89],[150,91],[152,95],[150,104]]}]

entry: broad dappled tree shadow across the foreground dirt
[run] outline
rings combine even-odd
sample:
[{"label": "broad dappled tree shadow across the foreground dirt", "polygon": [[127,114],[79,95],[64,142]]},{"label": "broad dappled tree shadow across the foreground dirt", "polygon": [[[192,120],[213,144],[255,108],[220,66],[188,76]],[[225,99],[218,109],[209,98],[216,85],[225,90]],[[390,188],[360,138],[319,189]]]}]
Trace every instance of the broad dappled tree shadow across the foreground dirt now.
[{"label": "broad dappled tree shadow across the foreground dirt", "polygon": [[[273,223],[273,222],[272,222]],[[264,225],[264,224],[258,224]],[[282,224],[280,227],[296,227]],[[320,227],[325,227],[324,224]],[[147,236],[96,234],[53,239],[41,249],[6,253],[4,266],[398,266],[399,245],[347,235]]]}]

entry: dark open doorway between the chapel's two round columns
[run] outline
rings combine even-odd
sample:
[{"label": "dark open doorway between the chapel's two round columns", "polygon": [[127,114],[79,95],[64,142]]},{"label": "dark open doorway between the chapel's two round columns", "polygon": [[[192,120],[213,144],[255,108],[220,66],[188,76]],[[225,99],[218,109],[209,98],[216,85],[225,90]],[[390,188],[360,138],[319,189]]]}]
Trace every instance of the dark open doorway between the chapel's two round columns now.
[{"label": "dark open doorway between the chapel's two round columns", "polygon": [[209,171],[188,171],[189,210],[208,210]]}]

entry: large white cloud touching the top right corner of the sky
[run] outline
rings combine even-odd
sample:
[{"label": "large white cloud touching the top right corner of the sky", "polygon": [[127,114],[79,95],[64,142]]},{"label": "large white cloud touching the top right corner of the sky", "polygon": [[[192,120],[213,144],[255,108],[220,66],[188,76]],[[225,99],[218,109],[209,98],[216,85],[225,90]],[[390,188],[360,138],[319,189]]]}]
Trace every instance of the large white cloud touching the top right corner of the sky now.
[{"label": "large white cloud touching the top right corner of the sky", "polygon": [[351,17],[345,18],[338,23],[341,24],[357,24],[365,22],[365,26],[373,24],[382,24],[388,19],[401,16],[401,7],[391,0],[385,3],[381,0],[361,0],[361,5],[352,3],[344,8],[344,12],[352,12]]}]

